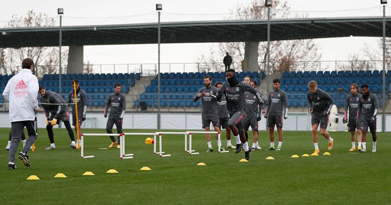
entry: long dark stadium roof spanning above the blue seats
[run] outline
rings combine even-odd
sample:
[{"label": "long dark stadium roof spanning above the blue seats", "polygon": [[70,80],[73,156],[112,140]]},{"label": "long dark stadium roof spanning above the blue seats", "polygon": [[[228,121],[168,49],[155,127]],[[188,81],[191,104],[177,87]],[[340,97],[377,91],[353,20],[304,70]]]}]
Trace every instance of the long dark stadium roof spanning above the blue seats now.
[{"label": "long dark stadium roof spanning above the blue seats", "polygon": [[[382,17],[271,19],[270,40],[382,37]],[[63,26],[63,46],[157,43],[157,23]],[[386,17],[391,37],[391,17]],[[162,22],[161,43],[266,41],[267,19]],[[0,47],[59,45],[59,26],[0,28]]]}]

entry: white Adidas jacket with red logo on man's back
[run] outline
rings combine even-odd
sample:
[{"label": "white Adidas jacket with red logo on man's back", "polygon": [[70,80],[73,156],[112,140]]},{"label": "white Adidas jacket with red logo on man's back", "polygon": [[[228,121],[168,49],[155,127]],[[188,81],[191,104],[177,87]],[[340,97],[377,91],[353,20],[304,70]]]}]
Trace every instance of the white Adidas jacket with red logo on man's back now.
[{"label": "white Adidas jacket with red logo on man's back", "polygon": [[33,121],[38,109],[38,79],[30,69],[22,69],[5,86],[3,96],[9,101],[9,121]]}]

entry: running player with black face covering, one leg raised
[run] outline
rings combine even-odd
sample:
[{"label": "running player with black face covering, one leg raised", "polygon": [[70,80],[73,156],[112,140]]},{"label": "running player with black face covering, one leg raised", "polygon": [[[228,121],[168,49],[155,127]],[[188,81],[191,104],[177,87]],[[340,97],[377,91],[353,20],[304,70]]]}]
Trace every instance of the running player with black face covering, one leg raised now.
[{"label": "running player with black face covering, one leg raised", "polygon": [[246,137],[244,136],[242,120],[247,116],[247,106],[244,100],[244,91],[249,91],[257,96],[258,101],[263,104],[263,98],[257,92],[257,90],[250,85],[239,82],[235,76],[234,69],[228,69],[225,72],[225,78],[227,82],[224,82],[217,93],[217,101],[221,100],[221,96],[225,95],[227,100],[227,109],[230,114],[230,120],[228,122],[229,127],[236,139],[236,153],[240,152],[243,147],[245,154],[244,158],[248,160],[250,158],[251,149],[248,147]]}]

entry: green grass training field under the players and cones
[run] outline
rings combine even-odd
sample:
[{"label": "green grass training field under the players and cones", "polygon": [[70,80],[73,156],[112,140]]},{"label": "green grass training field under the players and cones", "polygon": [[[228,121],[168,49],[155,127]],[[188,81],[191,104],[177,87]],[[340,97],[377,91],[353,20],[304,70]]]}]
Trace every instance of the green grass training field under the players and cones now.
[{"label": "green grass training field under the players and cones", "polygon": [[[151,131],[155,130],[124,130]],[[18,169],[8,170],[9,152],[4,148],[9,129],[0,129],[1,204],[391,204],[387,132],[378,133],[376,153],[370,152],[370,134],[368,152],[349,153],[348,132],[331,132],[335,139],[331,155],[291,158],[313,152],[309,131],[285,131],[281,151],[266,150],[268,132],[262,131],[262,150],[251,152],[249,162],[239,162],[243,151],[218,153],[216,140],[212,141],[215,151],[205,152],[203,134],[193,136],[198,155],[184,152],[183,135],[163,135],[163,151],[171,157],[153,154],[153,145],[144,143],[148,136],[128,136],[126,150],[134,153],[133,159],[119,159],[117,148],[99,149],[109,146],[109,137],[86,136],[85,155],[95,157],[81,159],[80,150],[69,148],[66,130],[54,132],[56,149],[44,150],[49,140],[46,130],[40,129],[36,151],[28,153],[31,167],[16,159]],[[323,154],[327,142],[319,139]],[[266,160],[268,156],[275,160]],[[206,166],[197,166],[199,162]],[[139,170],[142,167],[152,170]],[[109,169],[119,173],[106,173]],[[95,175],[83,176],[86,171]],[[57,173],[67,178],[54,178]],[[40,180],[26,180],[30,175]]]}]

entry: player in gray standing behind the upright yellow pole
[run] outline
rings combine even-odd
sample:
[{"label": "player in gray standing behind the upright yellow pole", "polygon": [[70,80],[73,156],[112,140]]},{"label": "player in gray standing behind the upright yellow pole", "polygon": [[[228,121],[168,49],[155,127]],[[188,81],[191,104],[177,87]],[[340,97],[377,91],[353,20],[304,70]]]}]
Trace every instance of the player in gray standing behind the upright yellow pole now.
[{"label": "player in gray standing behind the upright yellow pole", "polygon": [[[77,124],[76,124],[76,100],[75,100],[75,91],[73,90],[73,83],[75,83],[76,88],[76,99],[77,99]],[[76,146],[80,146],[80,139],[82,133],[80,128],[82,127],[82,123],[86,120],[86,112],[87,112],[87,94],[80,88],[79,80],[72,80],[72,91],[68,94],[69,106],[72,106],[72,125],[75,127],[76,133],[78,133],[77,140],[78,143]]]}]

